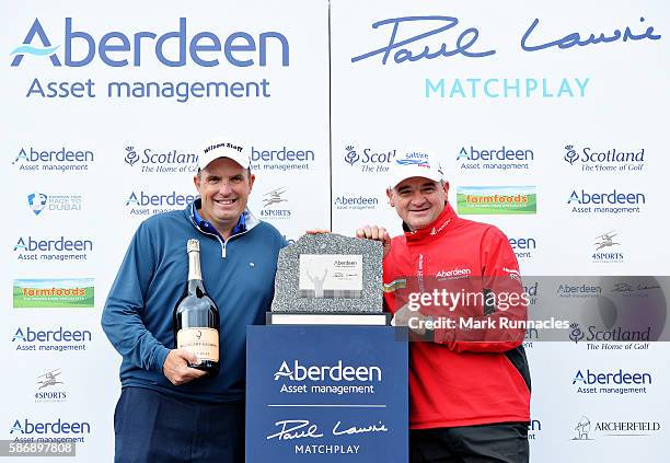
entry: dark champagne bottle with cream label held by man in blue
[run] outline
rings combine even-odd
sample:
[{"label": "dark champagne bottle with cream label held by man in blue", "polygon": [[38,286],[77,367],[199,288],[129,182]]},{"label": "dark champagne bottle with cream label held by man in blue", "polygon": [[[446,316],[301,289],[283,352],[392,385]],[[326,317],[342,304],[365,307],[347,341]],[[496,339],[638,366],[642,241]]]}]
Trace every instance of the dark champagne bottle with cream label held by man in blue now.
[{"label": "dark champagne bottle with cream label held by man in blue", "polygon": [[212,375],[219,372],[219,308],[207,296],[200,271],[200,242],[188,240],[188,283],[174,308],[173,326],[177,349],[187,349],[200,359],[188,364]]}]

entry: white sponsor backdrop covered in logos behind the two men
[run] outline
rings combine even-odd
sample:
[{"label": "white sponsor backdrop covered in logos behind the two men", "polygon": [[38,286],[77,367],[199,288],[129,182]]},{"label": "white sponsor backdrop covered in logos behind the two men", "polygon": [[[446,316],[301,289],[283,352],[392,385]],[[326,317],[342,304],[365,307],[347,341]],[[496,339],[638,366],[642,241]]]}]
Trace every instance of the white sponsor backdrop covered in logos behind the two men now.
[{"label": "white sponsor backdrop covered in logos behind the two men", "polygon": [[[217,135],[251,141],[250,206],[289,240],[398,233],[385,173],[432,150],[452,206],[499,225],[523,275],[668,274],[662,2],[68,7],[1,7],[1,439],[112,460],[100,313],[136,227],[194,199]],[[532,460],[663,461],[668,346],[605,345],[586,322],[565,338],[528,336]]]}]

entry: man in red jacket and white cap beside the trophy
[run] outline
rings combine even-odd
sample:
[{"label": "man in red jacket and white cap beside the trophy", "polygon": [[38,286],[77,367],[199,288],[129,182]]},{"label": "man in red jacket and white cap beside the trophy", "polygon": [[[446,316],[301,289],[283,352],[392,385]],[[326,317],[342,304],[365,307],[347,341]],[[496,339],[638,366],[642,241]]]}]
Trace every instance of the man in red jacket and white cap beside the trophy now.
[{"label": "man in red jacket and white cap beside the trophy", "polygon": [[383,242],[392,323],[419,337],[409,349],[411,460],[528,462],[530,372],[525,329],[515,325],[525,320],[517,258],[496,227],[455,215],[429,153],[396,162],[386,194],[405,233],[391,240],[368,225],[357,236]]}]

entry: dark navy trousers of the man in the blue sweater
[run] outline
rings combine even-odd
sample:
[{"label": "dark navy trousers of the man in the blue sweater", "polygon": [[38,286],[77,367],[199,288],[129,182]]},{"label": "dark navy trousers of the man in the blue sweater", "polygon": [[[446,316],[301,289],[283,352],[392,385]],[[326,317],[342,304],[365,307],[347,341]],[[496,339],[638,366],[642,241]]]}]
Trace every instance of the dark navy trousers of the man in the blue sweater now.
[{"label": "dark navy trousers of the man in the blue sweater", "polygon": [[114,433],[115,463],[243,463],[244,404],[204,404],[125,387]]}]

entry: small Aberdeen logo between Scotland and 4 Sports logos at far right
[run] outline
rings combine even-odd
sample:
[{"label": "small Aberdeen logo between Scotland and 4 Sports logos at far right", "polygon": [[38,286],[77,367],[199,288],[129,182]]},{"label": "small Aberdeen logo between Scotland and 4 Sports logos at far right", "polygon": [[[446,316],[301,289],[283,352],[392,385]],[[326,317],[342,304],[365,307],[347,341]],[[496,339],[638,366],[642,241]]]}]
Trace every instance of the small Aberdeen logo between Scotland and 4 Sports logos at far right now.
[{"label": "small Aberdeen logo between Scotland and 4 Sports logos at far right", "polygon": [[570,211],[578,215],[629,215],[639,213],[647,202],[643,193],[589,192],[573,189],[567,199]]}]

